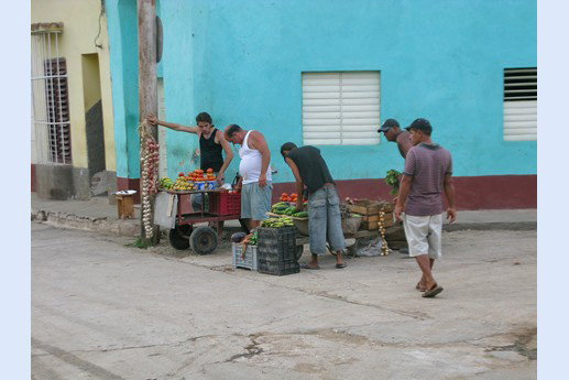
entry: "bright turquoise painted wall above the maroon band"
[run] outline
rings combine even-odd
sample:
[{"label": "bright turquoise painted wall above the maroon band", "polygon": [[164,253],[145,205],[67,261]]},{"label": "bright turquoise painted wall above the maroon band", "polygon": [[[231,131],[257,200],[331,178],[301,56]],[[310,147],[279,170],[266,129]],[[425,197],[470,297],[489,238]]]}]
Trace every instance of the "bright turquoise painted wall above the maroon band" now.
[{"label": "bright turquoise painted wall above the maroon band", "polygon": [[[382,120],[429,119],[457,176],[537,173],[537,143],[503,141],[502,115],[503,69],[537,66],[536,1],[168,0],[160,13],[167,119],[194,124],[206,110],[220,128],[261,131],[275,182],[293,181],[278,149],[303,143],[300,78],[313,70],[380,70]],[[168,131],[167,146],[168,175],[194,167],[195,137]],[[403,166],[384,139],[320,149],[336,180]]]}]

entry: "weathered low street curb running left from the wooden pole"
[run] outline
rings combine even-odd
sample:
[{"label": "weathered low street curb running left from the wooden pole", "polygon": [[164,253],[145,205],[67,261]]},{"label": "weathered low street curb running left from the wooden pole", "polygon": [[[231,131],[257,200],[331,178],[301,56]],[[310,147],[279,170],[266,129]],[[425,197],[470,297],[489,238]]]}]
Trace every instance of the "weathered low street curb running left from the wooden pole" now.
[{"label": "weathered low street curb running left from the wooden pole", "polygon": [[61,211],[33,210],[32,221],[43,222],[59,228],[79,229],[114,236],[140,236],[140,224],[134,220],[109,220],[107,217],[92,218]]}]

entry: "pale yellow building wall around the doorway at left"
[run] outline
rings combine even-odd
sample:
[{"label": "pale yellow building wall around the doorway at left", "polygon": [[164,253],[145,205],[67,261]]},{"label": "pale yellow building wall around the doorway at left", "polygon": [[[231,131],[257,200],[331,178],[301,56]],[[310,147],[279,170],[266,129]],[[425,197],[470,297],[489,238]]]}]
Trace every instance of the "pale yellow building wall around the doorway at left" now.
[{"label": "pale yellow building wall around the doorway at left", "polygon": [[[75,167],[87,167],[87,135],[85,112],[96,102],[92,89],[84,96],[84,54],[98,54],[100,97],[105,133],[105,161],[107,171],[117,171],[114,126],[112,121],[112,93],[109,65],[107,18],[101,14],[100,0],[32,0],[31,22],[63,22],[59,37],[59,56],[67,62],[69,88],[69,119],[72,126],[72,162]],[[99,34],[100,29],[100,34]],[[99,35],[97,37],[97,35]],[[95,46],[102,45],[102,48]],[[88,59],[89,61],[89,59]],[[91,59],[92,61],[92,59]],[[91,62],[88,62],[89,64]],[[95,78],[89,78],[95,79]],[[91,87],[92,88],[92,87]],[[96,91],[95,91],[96,93]],[[87,98],[87,99],[86,99]],[[87,107],[87,108],[86,108]]]}]

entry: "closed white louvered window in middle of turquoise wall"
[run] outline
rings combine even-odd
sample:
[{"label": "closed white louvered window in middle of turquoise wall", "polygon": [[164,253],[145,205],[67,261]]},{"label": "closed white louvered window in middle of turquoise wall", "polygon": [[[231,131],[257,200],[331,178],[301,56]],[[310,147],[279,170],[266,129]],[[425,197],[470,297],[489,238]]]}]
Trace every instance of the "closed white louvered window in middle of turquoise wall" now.
[{"label": "closed white louvered window in middle of turquoise wall", "polygon": [[379,124],[379,72],[303,73],[305,144],[376,144]]}]

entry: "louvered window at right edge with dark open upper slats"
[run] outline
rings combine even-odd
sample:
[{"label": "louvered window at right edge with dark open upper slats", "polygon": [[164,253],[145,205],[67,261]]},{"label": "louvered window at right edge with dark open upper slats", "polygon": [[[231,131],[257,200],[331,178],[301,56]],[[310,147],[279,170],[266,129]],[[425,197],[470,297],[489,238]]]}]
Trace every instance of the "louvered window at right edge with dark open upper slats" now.
[{"label": "louvered window at right edge with dark open upper slats", "polygon": [[537,141],[537,67],[504,69],[504,140]]}]

